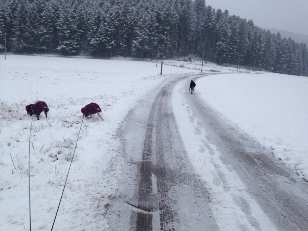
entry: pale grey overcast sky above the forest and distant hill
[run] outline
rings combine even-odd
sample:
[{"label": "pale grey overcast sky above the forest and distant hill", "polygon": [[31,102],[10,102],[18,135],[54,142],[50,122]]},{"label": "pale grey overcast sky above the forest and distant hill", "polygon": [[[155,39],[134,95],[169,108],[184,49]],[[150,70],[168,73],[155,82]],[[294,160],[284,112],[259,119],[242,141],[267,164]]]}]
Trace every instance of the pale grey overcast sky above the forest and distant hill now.
[{"label": "pale grey overcast sky above the forest and distant hill", "polygon": [[229,10],[261,28],[308,35],[308,0],[205,0],[215,10]]}]

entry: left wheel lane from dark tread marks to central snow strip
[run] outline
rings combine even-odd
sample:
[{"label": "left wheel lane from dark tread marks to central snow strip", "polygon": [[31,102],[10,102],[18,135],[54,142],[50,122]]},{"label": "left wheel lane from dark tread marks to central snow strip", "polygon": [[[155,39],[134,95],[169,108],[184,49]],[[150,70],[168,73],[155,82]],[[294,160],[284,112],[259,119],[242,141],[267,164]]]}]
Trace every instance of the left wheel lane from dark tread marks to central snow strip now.
[{"label": "left wheel lane from dark tread marks to central snow strip", "polygon": [[189,161],[172,113],[172,89],[184,78],[165,84],[149,114],[138,198],[144,211],[137,213],[135,230],[218,230],[208,193]]}]

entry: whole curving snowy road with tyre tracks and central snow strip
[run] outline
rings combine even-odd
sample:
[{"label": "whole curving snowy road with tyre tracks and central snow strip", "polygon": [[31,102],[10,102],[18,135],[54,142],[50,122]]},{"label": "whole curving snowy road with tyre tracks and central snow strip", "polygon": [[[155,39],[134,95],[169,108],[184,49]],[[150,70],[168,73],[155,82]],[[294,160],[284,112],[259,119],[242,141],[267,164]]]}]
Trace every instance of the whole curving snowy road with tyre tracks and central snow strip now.
[{"label": "whole curving snowy road with tyre tracks and central snow strip", "polygon": [[125,118],[111,230],[307,230],[308,187],[204,102],[165,80]]}]

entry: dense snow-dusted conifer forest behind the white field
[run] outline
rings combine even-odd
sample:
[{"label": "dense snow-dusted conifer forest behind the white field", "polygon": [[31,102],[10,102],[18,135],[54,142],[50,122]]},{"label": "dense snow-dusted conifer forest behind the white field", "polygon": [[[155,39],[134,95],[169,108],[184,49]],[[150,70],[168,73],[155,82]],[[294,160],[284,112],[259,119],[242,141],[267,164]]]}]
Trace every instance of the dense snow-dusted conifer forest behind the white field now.
[{"label": "dense snow-dusted conifer forest behind the white field", "polygon": [[308,76],[306,44],[205,0],[0,0],[0,51],[16,54],[199,56]]}]

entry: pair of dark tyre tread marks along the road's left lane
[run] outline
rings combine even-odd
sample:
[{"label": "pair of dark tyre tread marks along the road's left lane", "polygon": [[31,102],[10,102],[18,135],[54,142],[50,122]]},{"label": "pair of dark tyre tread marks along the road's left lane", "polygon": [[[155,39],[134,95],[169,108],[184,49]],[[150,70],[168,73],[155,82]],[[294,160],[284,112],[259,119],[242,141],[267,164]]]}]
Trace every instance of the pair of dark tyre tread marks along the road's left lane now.
[{"label": "pair of dark tyre tread marks along the road's left lane", "polygon": [[[164,200],[168,197],[168,186],[166,184],[165,178],[167,177],[165,164],[164,164],[164,149],[162,146],[162,105],[165,99],[167,89],[172,85],[168,83],[166,87],[159,92],[156,96],[155,102],[151,108],[151,112],[148,119],[148,128],[144,140],[144,149],[142,153],[141,170],[140,170],[140,184],[139,184],[139,200],[138,207],[142,208],[147,212],[153,212],[155,205],[149,205],[151,202],[152,193],[152,169],[151,157],[156,156],[156,164],[159,166],[156,171],[157,178],[157,193],[160,197],[158,202],[158,209],[160,213],[160,230],[175,230],[174,228],[174,218],[173,212],[168,205],[164,203]],[[153,129],[155,128],[156,129]],[[154,134],[153,134],[154,133]],[[156,147],[153,147],[153,136],[156,139]],[[156,150],[156,152],[155,152]],[[152,153],[153,152],[153,153]],[[146,206],[144,206],[146,205]],[[152,214],[139,212],[137,213],[136,230],[152,230]]]}]

